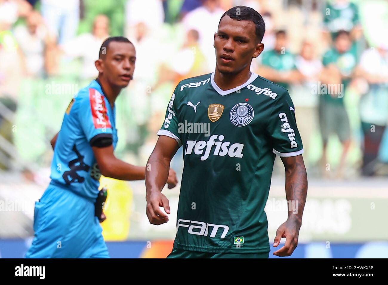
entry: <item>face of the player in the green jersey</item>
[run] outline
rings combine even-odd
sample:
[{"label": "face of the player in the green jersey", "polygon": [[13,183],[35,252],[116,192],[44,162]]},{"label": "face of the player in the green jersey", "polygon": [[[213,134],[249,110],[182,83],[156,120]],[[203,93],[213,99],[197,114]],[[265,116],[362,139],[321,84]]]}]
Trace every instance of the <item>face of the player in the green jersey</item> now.
[{"label": "face of the player in the green jersey", "polygon": [[224,16],[218,32],[214,34],[214,47],[218,70],[221,73],[238,73],[250,66],[252,58],[263,51],[264,44],[257,43],[253,22]]}]

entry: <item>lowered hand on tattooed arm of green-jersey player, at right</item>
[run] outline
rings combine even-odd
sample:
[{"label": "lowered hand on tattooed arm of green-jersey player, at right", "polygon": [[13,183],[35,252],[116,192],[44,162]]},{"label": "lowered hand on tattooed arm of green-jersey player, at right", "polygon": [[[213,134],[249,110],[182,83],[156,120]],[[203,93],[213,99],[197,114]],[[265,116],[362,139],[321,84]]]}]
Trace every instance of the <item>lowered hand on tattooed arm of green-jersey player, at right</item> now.
[{"label": "lowered hand on tattooed arm of green-jersey player, at right", "polygon": [[276,231],[274,247],[279,245],[281,238],[286,238],[286,242],[281,249],[274,252],[274,255],[290,256],[294,252],[298,246],[299,229],[300,224],[295,220],[288,219],[286,222],[281,224]]}]

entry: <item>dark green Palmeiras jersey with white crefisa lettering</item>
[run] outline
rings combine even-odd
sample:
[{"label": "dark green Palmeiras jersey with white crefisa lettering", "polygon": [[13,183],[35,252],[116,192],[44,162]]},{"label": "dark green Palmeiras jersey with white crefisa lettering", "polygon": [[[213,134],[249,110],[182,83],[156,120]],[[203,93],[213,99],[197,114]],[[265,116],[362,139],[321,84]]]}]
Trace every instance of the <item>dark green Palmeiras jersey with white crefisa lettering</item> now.
[{"label": "dark green Palmeiras jersey with white crefisa lettering", "polygon": [[275,156],[303,153],[288,91],[255,73],[226,91],[214,73],[182,80],[158,135],[183,147],[175,247],[268,252],[264,207]]}]

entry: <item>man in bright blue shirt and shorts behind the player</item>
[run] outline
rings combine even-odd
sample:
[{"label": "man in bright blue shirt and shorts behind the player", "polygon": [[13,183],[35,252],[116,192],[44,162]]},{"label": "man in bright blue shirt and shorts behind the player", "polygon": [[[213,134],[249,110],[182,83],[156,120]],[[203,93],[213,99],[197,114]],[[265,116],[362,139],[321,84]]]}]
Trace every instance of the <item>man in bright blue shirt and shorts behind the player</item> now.
[{"label": "man in bright blue shirt and shorts behind the player", "polygon": [[[98,78],[74,97],[61,130],[52,139],[51,182],[35,203],[34,231],[27,258],[108,258],[95,201],[101,175],[144,179],[145,167],[114,156],[118,137],[114,101],[135,69],[135,47],[124,37],[102,43]],[[177,184],[170,172],[169,188]]]}]

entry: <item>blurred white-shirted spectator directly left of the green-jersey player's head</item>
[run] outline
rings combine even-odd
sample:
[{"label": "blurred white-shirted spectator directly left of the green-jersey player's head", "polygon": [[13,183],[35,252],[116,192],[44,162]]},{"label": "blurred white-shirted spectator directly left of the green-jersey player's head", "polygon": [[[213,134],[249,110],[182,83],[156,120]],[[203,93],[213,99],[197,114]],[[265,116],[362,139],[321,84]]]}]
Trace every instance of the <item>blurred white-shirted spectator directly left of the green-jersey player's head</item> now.
[{"label": "blurred white-shirted spectator directly left of the green-jersey player's head", "polygon": [[219,0],[203,0],[203,6],[198,7],[183,18],[182,24],[186,31],[196,30],[199,33],[199,45],[206,57],[207,72],[213,72],[216,64],[213,46],[214,33],[225,12],[220,8]]}]

